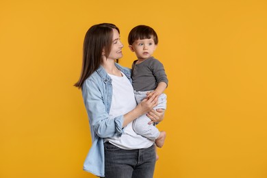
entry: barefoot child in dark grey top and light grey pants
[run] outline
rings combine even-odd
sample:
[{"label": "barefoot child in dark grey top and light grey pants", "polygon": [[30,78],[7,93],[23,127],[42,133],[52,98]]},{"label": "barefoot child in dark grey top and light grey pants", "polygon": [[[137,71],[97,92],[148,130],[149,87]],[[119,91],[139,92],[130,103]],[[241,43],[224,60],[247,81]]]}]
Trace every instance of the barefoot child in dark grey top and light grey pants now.
[{"label": "barefoot child in dark grey top and light grey pants", "polygon": [[[166,94],[164,90],[168,85],[168,79],[162,63],[153,58],[153,52],[157,47],[156,32],[146,25],[138,25],[131,29],[128,36],[129,48],[136,53],[138,60],[132,64],[131,75],[133,79],[133,90],[135,90],[136,101],[155,95],[158,105],[154,109],[166,109]],[[155,140],[157,147],[162,147],[166,138],[165,131],[159,131],[145,114],[133,120],[133,130],[136,133]],[[157,156],[158,159],[158,156]]]}]

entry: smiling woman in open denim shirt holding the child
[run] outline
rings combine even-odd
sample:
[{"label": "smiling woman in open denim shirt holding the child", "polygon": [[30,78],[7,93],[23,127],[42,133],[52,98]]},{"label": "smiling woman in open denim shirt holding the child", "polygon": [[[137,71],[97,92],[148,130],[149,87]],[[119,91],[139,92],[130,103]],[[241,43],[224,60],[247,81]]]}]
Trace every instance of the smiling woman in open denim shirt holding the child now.
[{"label": "smiling woman in open denim shirt holding the child", "polygon": [[102,23],[88,29],[84,39],[81,88],[90,122],[92,147],[84,170],[106,178],[149,178],[155,168],[153,141],[136,134],[132,121],[147,112],[153,122],[163,119],[155,111],[156,99],[136,105],[131,71],[115,62],[122,58],[119,29]]}]

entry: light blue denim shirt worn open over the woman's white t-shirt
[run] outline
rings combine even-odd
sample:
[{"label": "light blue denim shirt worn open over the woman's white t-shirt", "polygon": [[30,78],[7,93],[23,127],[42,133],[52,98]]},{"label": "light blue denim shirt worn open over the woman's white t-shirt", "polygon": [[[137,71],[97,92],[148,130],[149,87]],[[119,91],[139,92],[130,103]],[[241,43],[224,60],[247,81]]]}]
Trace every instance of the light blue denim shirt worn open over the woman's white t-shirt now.
[{"label": "light blue denim shirt worn open over the woman's white t-shirt", "polygon": [[[131,81],[131,69],[116,67]],[[82,95],[90,123],[92,147],[84,162],[84,170],[105,177],[105,155],[103,138],[121,136],[123,133],[123,115],[110,118],[112,103],[112,79],[103,66],[94,71],[82,86]]]}]

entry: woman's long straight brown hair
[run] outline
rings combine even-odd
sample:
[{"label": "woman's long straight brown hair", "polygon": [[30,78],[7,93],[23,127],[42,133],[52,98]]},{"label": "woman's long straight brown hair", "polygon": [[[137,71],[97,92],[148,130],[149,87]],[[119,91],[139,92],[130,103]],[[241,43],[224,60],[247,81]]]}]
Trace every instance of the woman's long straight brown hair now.
[{"label": "woman's long straight brown hair", "polygon": [[106,58],[110,55],[112,47],[113,29],[118,27],[112,23],[101,23],[93,25],[88,29],[84,38],[83,64],[81,75],[74,86],[81,88],[84,81],[99,68],[101,64],[102,51],[105,51]]}]

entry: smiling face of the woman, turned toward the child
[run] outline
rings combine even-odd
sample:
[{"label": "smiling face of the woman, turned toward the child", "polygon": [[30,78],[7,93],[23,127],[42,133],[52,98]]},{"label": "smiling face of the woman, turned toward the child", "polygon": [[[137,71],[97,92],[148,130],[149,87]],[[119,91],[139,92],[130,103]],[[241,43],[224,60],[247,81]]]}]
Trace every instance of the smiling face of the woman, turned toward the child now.
[{"label": "smiling face of the woman, turned toward the child", "polygon": [[120,34],[118,34],[118,31],[116,29],[113,29],[113,38],[112,38],[112,48],[110,51],[110,55],[107,57],[107,59],[110,60],[117,60],[123,57],[122,50],[123,49],[123,43],[120,41]]}]

